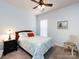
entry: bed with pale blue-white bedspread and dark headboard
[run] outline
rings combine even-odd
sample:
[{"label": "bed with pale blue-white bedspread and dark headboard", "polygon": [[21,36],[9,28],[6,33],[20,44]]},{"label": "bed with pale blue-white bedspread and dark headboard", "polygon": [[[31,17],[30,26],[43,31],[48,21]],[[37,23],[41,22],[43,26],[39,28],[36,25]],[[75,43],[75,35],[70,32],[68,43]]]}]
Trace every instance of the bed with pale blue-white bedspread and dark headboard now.
[{"label": "bed with pale blue-white bedspread and dark headboard", "polygon": [[32,59],[44,59],[44,54],[52,47],[52,39],[50,37],[43,36],[19,36],[22,32],[32,32],[31,30],[24,30],[16,32],[16,40],[19,45],[31,54]]}]

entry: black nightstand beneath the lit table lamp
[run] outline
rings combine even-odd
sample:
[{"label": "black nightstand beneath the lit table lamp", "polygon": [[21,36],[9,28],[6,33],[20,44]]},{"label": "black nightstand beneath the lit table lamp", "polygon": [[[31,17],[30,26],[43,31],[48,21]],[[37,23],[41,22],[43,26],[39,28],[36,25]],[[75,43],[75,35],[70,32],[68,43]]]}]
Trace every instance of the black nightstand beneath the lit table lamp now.
[{"label": "black nightstand beneath the lit table lamp", "polygon": [[17,50],[17,40],[4,41],[3,55]]}]

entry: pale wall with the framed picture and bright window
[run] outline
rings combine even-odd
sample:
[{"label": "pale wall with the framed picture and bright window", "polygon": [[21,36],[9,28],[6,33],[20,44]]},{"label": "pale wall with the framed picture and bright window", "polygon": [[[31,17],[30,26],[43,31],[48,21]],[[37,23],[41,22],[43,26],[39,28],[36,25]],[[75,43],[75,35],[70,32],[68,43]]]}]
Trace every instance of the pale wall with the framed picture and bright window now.
[{"label": "pale wall with the framed picture and bright window", "polygon": [[[40,34],[39,21],[48,19],[48,35],[52,37],[53,43],[63,46],[69,35],[79,36],[79,3],[50,11],[37,16],[37,34]],[[57,21],[67,20],[68,29],[57,29]]]}]

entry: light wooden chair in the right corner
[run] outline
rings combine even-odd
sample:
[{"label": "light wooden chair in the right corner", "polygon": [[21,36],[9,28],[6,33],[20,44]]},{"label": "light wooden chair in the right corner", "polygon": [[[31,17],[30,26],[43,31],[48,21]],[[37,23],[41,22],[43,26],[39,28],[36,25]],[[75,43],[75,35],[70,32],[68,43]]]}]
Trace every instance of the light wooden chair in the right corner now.
[{"label": "light wooden chair in the right corner", "polygon": [[[74,51],[77,51],[77,44],[78,38],[75,35],[70,35],[67,42],[64,42],[64,49],[69,50],[71,52],[71,55],[74,55]],[[78,52],[78,51],[77,51]]]}]

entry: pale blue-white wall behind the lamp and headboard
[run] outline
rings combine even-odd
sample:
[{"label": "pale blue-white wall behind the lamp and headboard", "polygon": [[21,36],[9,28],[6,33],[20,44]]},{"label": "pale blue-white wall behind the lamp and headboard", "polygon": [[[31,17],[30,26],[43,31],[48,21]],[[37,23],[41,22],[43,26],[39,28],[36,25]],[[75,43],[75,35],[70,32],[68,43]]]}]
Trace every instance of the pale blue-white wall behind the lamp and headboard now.
[{"label": "pale blue-white wall behind the lamp and headboard", "polygon": [[36,31],[36,18],[28,10],[23,11],[0,0],[0,35],[8,29]]}]

